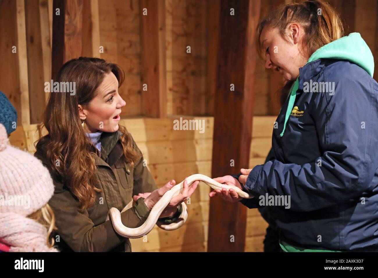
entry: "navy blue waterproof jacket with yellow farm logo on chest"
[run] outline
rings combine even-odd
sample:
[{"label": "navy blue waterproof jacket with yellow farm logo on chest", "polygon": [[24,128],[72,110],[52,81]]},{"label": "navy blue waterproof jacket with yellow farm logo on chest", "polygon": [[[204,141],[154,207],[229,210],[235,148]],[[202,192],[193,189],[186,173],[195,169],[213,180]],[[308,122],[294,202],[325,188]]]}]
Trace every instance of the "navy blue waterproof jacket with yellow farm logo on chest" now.
[{"label": "navy blue waterproof jacket with yellow farm logo on chest", "polygon": [[[378,251],[378,84],[371,75],[346,59],[316,59],[299,69],[283,136],[289,98],[273,129],[275,159],[253,168],[245,189],[254,199],[241,201],[257,208],[266,193],[290,196],[289,209],[270,206],[282,241]],[[309,90],[314,82],[334,82],[334,91],[332,83],[327,92]]]}]

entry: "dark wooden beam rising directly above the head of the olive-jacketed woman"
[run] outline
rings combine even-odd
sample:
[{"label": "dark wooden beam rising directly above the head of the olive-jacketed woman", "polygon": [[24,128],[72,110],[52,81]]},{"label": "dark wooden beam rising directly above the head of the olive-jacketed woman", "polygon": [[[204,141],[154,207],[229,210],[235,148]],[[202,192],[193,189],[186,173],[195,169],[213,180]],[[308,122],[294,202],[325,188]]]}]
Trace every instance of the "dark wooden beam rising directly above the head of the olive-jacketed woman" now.
[{"label": "dark wooden beam rising directly above the head of the olive-jacketed woman", "polygon": [[[60,14],[56,14],[59,9]],[[54,0],[52,78],[62,65],[81,56],[83,0]]]}]

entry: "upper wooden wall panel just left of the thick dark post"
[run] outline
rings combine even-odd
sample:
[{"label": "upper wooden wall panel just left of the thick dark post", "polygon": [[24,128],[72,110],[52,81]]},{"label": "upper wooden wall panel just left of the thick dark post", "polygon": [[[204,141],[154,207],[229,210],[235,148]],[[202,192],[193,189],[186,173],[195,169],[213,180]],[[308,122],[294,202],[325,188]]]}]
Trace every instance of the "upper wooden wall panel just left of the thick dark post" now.
[{"label": "upper wooden wall panel just left of the thick dark post", "polygon": [[211,115],[205,106],[208,9],[208,1],[166,0],[168,115]]}]

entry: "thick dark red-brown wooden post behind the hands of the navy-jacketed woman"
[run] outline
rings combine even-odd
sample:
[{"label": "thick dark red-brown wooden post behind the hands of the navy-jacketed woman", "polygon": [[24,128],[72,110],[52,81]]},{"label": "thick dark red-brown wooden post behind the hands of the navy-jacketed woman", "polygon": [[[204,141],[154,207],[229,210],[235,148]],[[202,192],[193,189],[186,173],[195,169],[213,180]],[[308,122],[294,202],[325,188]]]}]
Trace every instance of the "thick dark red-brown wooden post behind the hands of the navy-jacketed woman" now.
[{"label": "thick dark red-brown wooden post behind the hands of the navy-jacketed woman", "polygon": [[[230,15],[231,8],[234,16]],[[259,14],[260,0],[221,0],[212,177],[238,173],[249,164],[256,66],[254,34]],[[234,91],[230,90],[231,84]],[[245,229],[245,206],[211,198],[209,252],[243,252]]]}]

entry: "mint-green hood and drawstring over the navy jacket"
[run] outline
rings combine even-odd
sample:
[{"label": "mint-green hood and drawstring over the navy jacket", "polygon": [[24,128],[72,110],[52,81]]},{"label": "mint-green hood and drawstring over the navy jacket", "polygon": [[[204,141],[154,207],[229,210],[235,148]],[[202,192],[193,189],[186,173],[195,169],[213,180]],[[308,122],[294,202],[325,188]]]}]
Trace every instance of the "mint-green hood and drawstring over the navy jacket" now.
[{"label": "mint-green hood and drawstring over the navy jacket", "polygon": [[[350,33],[348,36],[342,37],[338,40],[334,40],[333,42],[330,42],[322,46],[311,55],[306,65],[310,62],[316,61],[321,58],[347,60],[363,68],[364,70],[366,70],[367,73],[369,73],[371,77],[373,77],[373,54],[359,33]],[[287,121],[289,119],[291,110],[293,109],[298,87],[299,76],[290,90],[290,98],[285,114],[285,122],[283,124],[283,130],[280,134],[281,137],[285,132]]]}]

